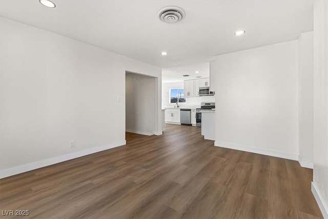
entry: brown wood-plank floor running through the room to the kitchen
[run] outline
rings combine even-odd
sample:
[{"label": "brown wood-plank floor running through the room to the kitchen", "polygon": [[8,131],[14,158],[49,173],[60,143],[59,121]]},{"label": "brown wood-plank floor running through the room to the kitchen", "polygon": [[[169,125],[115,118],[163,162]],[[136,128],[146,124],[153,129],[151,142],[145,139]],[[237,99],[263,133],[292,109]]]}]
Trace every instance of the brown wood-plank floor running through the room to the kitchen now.
[{"label": "brown wood-plank floor running through the room to the kitchen", "polygon": [[322,218],[312,170],[296,161],[214,147],[190,126],[126,139],[0,180],[1,210],[29,210],[22,218]]}]

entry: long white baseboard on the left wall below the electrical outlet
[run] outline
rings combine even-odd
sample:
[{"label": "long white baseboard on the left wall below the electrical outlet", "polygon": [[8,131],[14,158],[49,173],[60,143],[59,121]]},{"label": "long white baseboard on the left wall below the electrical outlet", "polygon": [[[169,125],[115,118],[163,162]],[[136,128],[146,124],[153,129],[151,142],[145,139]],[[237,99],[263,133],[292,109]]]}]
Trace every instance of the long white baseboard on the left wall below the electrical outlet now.
[{"label": "long white baseboard on the left wall below the electrical outlet", "polygon": [[57,164],[57,163],[60,163],[60,162],[72,160],[72,159],[77,158],[77,157],[97,153],[99,151],[104,151],[104,150],[108,150],[108,149],[111,149],[111,148],[116,148],[116,147],[119,147],[119,146],[122,146],[122,145],[126,145],[126,141],[116,142],[116,143],[109,144],[109,145],[90,148],[90,149],[86,149],[86,150],[83,150],[83,151],[77,151],[77,152],[74,152],[74,153],[69,153],[69,154],[56,156],[56,157],[51,157],[51,158],[48,158],[48,159],[42,160],[42,161],[37,161],[37,162],[33,162],[33,163],[29,163],[29,164],[25,164],[25,165],[21,165],[21,166],[17,166],[17,167],[12,167],[12,168],[9,168],[9,169],[1,170],[0,171],[0,178],[5,178],[5,177],[8,177],[8,176],[16,175],[16,174],[27,172],[27,171],[30,171],[30,170],[35,170],[35,169],[38,169],[38,168],[41,168],[41,167],[46,167],[46,166]]}]

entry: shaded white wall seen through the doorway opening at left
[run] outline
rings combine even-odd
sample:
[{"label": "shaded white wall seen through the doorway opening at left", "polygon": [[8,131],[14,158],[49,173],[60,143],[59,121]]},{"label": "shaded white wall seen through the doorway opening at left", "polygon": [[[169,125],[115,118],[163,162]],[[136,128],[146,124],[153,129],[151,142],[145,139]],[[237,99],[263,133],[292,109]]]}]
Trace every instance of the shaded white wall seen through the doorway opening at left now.
[{"label": "shaded white wall seen through the doorway opening at left", "polygon": [[126,74],[126,131],[152,135],[155,129],[155,78]]}]

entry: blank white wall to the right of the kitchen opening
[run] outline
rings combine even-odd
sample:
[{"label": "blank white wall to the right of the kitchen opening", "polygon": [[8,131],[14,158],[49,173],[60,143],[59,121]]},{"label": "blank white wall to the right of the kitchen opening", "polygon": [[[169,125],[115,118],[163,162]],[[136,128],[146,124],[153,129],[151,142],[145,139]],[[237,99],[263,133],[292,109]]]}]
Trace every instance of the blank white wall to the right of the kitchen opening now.
[{"label": "blank white wall to the right of the kitchen opening", "polygon": [[216,56],[216,146],[298,159],[297,41]]}]

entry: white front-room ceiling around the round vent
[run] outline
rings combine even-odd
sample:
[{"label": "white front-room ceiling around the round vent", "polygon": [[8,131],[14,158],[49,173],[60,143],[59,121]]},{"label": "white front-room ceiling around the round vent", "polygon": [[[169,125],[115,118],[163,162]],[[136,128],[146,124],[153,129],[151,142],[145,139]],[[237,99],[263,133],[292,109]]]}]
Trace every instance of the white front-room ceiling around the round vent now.
[{"label": "white front-room ceiling around the round vent", "polygon": [[[313,1],[1,0],[0,14],[159,67],[209,62],[238,50],[290,41],[313,30]],[[159,21],[165,6],[183,8],[176,24]],[[235,36],[244,29],[246,33]],[[167,51],[167,56],[161,56]]]}]

